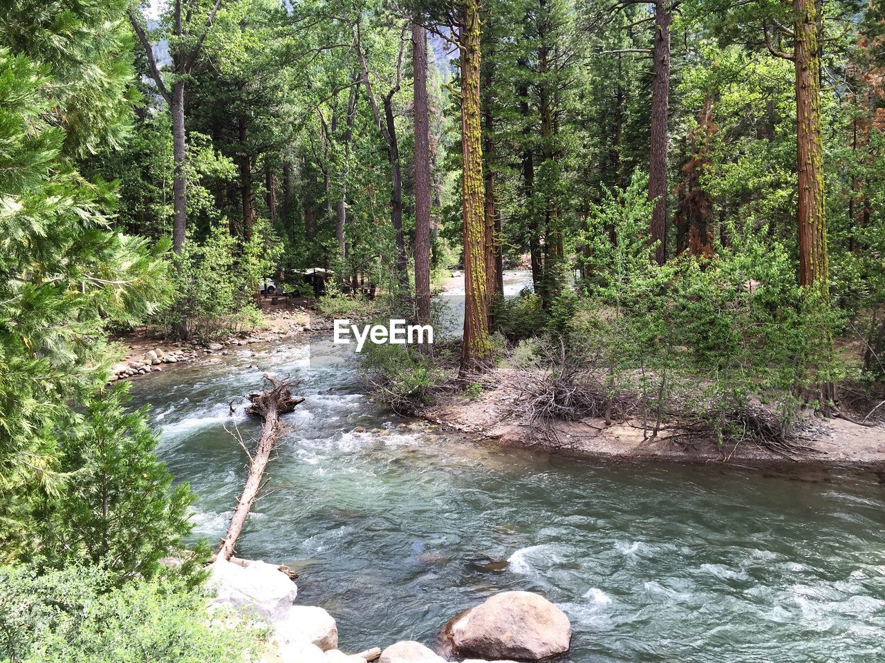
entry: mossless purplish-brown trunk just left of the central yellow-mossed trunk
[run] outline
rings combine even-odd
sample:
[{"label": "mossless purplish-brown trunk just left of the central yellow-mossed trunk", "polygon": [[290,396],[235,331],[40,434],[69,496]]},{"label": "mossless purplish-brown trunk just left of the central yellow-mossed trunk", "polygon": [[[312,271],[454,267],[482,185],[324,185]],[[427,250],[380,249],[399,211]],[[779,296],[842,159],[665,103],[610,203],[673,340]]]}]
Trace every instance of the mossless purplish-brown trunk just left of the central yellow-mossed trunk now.
[{"label": "mossless purplish-brown trunk just left of the central yellow-mossed trunk", "polygon": [[430,320],[430,118],[427,107],[427,30],[412,23],[415,122],[415,319]]}]

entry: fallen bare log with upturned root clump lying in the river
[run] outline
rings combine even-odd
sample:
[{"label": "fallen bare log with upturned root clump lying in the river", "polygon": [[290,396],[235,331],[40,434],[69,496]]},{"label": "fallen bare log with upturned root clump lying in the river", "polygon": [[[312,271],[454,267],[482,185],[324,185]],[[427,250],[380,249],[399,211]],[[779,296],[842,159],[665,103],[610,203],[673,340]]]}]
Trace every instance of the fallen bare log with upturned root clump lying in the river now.
[{"label": "fallen bare log with upturned root clump lying in the river", "polygon": [[264,426],[261,428],[261,437],[258,438],[258,444],[254,452],[250,453],[245,445],[242,447],[249,456],[249,478],[246,479],[242,495],[237,500],[234,515],[231,517],[230,526],[227,528],[227,534],[221,540],[218,554],[222,559],[229,560],[233,556],[234,546],[240,536],[243,523],[246,521],[246,516],[249,515],[252,503],[258,497],[258,491],[262,488],[261,478],[265,473],[271,452],[276,449],[277,439],[284,428],[280,421],[280,415],[292,412],[295,410],[296,405],[304,402],[304,398],[292,396],[290,389],[293,384],[292,381],[274,380],[267,374],[265,374],[265,380],[270,384],[271,389],[265,389],[259,393],[249,395],[252,405],[250,405],[247,412],[261,417],[264,420]]}]

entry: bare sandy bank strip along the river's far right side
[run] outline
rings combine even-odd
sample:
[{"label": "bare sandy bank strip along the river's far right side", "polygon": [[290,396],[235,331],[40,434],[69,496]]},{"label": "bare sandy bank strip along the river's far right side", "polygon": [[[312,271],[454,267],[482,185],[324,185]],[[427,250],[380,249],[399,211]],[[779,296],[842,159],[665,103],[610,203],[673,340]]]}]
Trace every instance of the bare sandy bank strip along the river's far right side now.
[{"label": "bare sandy bank strip along the river's far right side", "polygon": [[[506,368],[494,369],[486,384],[505,385]],[[498,379],[500,378],[500,379]],[[865,466],[885,469],[885,427],[864,426],[844,419],[815,419],[812,439],[802,443],[813,451],[791,454],[792,458],[746,440],[720,446],[712,440],[673,437],[662,429],[657,437],[643,435],[641,420],[615,421],[587,418],[560,421],[551,432],[539,436],[520,411],[512,391],[504,386],[485,389],[474,399],[449,393],[436,404],[421,410],[423,419],[480,435],[498,443],[560,453],[574,458],[619,460],[666,460],[682,463],[731,462],[746,466],[781,464],[821,466]]]}]

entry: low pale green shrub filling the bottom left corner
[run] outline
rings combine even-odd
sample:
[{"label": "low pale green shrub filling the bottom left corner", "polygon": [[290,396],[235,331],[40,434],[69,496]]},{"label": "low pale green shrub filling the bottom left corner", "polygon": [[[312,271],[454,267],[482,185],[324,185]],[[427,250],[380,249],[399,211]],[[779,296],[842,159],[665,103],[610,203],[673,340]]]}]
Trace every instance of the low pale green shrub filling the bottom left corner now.
[{"label": "low pale green shrub filling the bottom left corner", "polygon": [[266,635],[208,621],[202,590],[169,579],[117,587],[97,567],[0,567],[0,586],[0,660],[9,663],[245,662]]}]

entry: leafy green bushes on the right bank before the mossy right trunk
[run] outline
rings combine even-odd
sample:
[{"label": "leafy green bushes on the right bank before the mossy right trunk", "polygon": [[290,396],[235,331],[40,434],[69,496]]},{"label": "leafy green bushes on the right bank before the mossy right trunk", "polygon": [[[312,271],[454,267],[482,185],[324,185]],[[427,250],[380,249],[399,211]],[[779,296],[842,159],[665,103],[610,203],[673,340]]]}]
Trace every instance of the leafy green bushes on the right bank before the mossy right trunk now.
[{"label": "leafy green bushes on the right bank before the mossy right trunk", "polygon": [[642,184],[635,177],[609,193],[591,218],[591,236],[613,225],[615,241],[606,233],[593,243],[573,351],[605,369],[609,389],[633,391],[651,410],[673,399],[729,414],[761,403],[789,420],[816,402],[816,386],[844,374],[832,350],[839,313],[797,284],[789,251],[765,235],[735,235],[710,260],[650,261],[638,232]]}]

